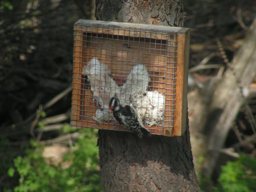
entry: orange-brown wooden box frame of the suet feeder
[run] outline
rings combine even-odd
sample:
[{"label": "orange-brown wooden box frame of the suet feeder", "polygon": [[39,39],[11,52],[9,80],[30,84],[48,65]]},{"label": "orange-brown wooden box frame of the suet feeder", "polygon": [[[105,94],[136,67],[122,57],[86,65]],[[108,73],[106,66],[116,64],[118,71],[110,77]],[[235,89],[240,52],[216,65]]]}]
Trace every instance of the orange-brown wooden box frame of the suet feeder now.
[{"label": "orange-brown wooden box frame of the suet feeder", "polygon": [[[85,34],[90,34],[90,36]],[[105,38],[99,40],[102,35]],[[107,38],[108,36],[110,36],[109,39]],[[91,39],[93,39],[93,42]],[[133,43],[132,48],[127,43],[130,42],[130,39],[132,39]],[[155,48],[152,48],[152,41],[154,42]],[[102,42],[106,44],[106,47],[104,49],[97,48],[97,44],[102,44]],[[90,43],[89,48],[86,43]],[[123,49],[125,51],[121,52],[121,56],[118,56],[118,51],[115,51],[113,45],[110,48],[111,53],[108,53],[110,51],[107,46],[109,43],[116,45],[116,47],[127,44],[127,47],[124,47]],[[142,52],[141,50],[143,48],[145,49],[143,50],[143,56],[147,58],[139,60],[142,58],[139,58],[140,55],[137,55],[136,51]],[[112,69],[112,77],[118,82],[121,81],[122,77],[118,77],[118,73],[115,71],[115,65],[118,62],[123,62],[121,60],[123,58],[128,63],[127,70],[130,70],[132,67],[130,63],[133,61],[129,60],[129,58],[136,58],[140,62],[143,62],[148,68],[151,78],[154,78],[157,71],[160,71],[158,68],[164,68],[161,70],[164,72],[162,78],[159,78],[158,76],[160,75],[157,74],[157,82],[155,81],[151,84],[149,82],[149,86],[154,87],[165,95],[164,125],[146,127],[149,128],[152,134],[180,136],[186,126],[188,53],[188,28],[78,20],[74,24],[71,125],[76,127],[126,131],[124,127],[118,125],[116,122],[97,124],[92,118],[84,118],[83,114],[84,111],[87,111],[86,115],[92,116],[95,111],[93,109],[95,102],[90,102],[90,100],[93,100],[92,92],[88,88],[82,88],[85,84],[84,77],[81,73],[82,67],[94,56],[99,57],[99,55],[104,55],[106,62],[109,57],[112,57],[111,54],[114,54],[114,59],[108,62],[108,65]]]}]

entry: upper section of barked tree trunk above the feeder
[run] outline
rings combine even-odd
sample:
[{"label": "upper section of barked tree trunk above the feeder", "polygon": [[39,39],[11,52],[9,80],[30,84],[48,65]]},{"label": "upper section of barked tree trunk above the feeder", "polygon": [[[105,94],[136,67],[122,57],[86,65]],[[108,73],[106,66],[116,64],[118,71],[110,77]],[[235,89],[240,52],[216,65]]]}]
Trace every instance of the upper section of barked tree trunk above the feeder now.
[{"label": "upper section of barked tree trunk above the feeder", "polygon": [[96,0],[97,20],[183,26],[180,0]]}]

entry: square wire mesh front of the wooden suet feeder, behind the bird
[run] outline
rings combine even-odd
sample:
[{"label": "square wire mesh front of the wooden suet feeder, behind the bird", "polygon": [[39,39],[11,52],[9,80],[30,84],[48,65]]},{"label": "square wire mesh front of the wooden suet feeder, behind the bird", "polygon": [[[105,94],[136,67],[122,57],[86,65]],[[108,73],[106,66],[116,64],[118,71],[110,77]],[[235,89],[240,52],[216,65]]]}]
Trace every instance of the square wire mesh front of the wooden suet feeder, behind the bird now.
[{"label": "square wire mesh front of the wooden suet feeder, behind the bird", "polygon": [[116,96],[152,134],[172,134],[177,32],[139,26],[76,22],[72,126],[127,131],[108,109]]}]

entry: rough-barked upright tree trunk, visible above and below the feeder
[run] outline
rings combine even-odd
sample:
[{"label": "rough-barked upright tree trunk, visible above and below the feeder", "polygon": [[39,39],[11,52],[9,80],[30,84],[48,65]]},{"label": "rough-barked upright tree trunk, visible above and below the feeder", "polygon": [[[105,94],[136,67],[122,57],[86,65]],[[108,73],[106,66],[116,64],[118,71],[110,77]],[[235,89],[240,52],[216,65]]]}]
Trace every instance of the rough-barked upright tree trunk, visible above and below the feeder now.
[{"label": "rough-barked upright tree trunk, visible above and below the feeder", "polygon": [[[182,26],[177,0],[96,0],[98,20]],[[182,136],[137,138],[130,132],[99,130],[104,191],[199,191],[189,140]]]}]

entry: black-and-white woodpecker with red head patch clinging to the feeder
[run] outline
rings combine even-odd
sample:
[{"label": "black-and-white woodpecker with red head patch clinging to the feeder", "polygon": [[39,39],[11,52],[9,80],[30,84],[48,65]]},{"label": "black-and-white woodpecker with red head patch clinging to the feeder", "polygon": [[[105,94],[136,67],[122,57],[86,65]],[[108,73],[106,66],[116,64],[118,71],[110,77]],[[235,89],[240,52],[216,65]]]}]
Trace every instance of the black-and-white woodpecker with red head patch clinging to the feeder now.
[{"label": "black-and-white woodpecker with red head patch clinging to the feeder", "polygon": [[116,96],[113,96],[109,101],[109,109],[113,111],[114,118],[119,124],[136,133],[139,138],[142,138],[142,134],[151,136],[149,130],[142,124],[142,120],[137,115],[136,109],[132,106],[128,104],[122,106],[120,100]]}]

